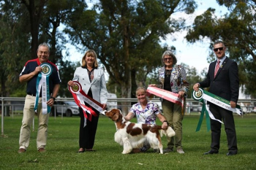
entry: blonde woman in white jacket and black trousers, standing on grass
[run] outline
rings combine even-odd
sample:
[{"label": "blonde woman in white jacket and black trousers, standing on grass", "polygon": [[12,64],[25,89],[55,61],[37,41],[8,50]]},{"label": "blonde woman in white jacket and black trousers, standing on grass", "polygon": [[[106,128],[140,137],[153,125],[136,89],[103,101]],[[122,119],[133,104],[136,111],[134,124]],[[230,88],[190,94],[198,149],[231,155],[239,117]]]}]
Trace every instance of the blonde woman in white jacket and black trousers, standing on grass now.
[{"label": "blonde woman in white jacket and black trousers, standing on grass", "polygon": [[[70,80],[67,84],[73,86],[75,85],[73,81],[80,82],[83,91],[91,98],[94,98],[94,100],[103,104],[103,109],[107,107],[108,91],[106,88],[105,76],[103,70],[98,68],[97,54],[94,52],[94,50],[86,51],[82,58],[82,66],[75,70],[73,80]],[[90,107],[87,103],[86,106]],[[94,147],[94,139],[97,131],[99,112],[93,107],[92,109],[97,113],[98,116],[92,116],[90,121],[88,119],[85,120],[83,109],[79,107],[80,149],[78,152],[95,151],[92,148]],[[85,121],[86,126],[84,127]]]}]

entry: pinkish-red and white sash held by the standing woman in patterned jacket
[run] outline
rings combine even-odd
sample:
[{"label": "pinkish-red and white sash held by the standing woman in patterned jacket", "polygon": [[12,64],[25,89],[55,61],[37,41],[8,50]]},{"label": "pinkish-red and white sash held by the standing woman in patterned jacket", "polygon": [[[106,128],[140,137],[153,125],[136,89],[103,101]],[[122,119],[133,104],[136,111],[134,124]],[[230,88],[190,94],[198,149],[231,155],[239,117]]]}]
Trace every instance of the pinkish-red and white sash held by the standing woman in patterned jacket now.
[{"label": "pinkish-red and white sash held by the standing woman in patterned jacket", "polygon": [[[183,98],[178,97],[178,93],[173,93],[173,92],[164,90],[162,88],[156,88],[156,87],[148,87],[146,91],[147,93],[151,93],[160,98],[164,98],[167,101],[171,101],[174,104],[181,105],[182,114],[183,114],[184,101],[183,101]],[[150,96],[150,94],[148,94],[148,96]]]}]

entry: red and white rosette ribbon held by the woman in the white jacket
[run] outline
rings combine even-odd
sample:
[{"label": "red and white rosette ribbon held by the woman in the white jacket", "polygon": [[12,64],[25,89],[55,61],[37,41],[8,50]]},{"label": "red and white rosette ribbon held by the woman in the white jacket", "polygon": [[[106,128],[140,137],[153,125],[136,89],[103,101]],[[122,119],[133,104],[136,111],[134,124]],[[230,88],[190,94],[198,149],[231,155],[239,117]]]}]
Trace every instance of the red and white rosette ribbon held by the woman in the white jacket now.
[{"label": "red and white rosette ribbon held by the woman in the white jacket", "polygon": [[[101,114],[105,115],[105,111],[103,110],[103,104],[100,104],[98,101],[94,100],[94,98],[91,98],[88,96],[84,91],[82,90],[82,86],[78,81],[73,81],[75,84],[73,87],[69,86],[69,91],[72,93],[72,96],[75,100],[75,103],[78,105],[78,107],[83,109],[83,115],[85,119],[88,119],[91,121],[92,115],[97,117],[97,113],[94,112],[94,110],[91,107],[94,107],[97,111],[99,111]],[[91,107],[86,107],[86,102],[89,104]],[[86,114],[89,113],[88,115]],[[86,126],[86,120],[84,121]]]}]

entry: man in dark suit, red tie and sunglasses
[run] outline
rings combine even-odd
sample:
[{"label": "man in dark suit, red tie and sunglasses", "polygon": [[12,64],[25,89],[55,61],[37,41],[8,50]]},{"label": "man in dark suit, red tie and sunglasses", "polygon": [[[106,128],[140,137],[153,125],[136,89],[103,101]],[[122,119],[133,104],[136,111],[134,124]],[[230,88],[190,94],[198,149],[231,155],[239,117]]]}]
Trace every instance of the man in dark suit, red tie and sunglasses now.
[{"label": "man in dark suit, red tie and sunglasses", "polygon": [[[209,88],[209,92],[230,101],[230,107],[235,108],[239,94],[238,66],[225,55],[226,47],[223,42],[214,42],[214,53],[217,61],[210,63],[206,80],[197,82],[193,89],[195,91],[201,88]],[[218,64],[219,63],[219,64]],[[210,111],[218,120],[223,120],[225,132],[227,134],[227,155],[236,155],[238,152],[236,142],[236,128],[233,118],[233,112],[212,104]],[[211,150],[204,155],[219,153],[219,140],[222,124],[217,120],[211,120]]]}]

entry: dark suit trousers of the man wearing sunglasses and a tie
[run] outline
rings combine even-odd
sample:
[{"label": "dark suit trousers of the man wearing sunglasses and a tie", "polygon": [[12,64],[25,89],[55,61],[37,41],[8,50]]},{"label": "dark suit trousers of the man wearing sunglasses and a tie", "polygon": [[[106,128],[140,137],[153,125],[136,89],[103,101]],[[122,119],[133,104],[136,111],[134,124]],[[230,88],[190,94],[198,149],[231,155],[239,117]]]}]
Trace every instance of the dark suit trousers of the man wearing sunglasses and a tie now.
[{"label": "dark suit trousers of the man wearing sunglasses and a tie", "polygon": [[[218,107],[215,104],[210,104],[210,111],[216,119],[222,120],[224,123],[228,150],[237,152],[238,147],[233,112]],[[219,150],[221,128],[222,123],[219,123],[217,120],[211,120],[211,150]]]}]

